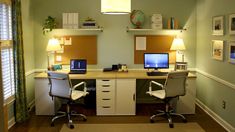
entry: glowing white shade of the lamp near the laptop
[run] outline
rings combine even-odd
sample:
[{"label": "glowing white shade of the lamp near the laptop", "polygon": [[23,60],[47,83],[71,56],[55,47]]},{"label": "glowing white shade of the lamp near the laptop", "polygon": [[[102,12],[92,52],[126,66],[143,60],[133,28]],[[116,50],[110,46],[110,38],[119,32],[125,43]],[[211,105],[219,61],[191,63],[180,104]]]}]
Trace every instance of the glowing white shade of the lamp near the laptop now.
[{"label": "glowing white shade of the lamp near the laptop", "polygon": [[59,40],[55,39],[55,38],[49,39],[46,50],[48,52],[61,50],[61,46],[60,46]]}]

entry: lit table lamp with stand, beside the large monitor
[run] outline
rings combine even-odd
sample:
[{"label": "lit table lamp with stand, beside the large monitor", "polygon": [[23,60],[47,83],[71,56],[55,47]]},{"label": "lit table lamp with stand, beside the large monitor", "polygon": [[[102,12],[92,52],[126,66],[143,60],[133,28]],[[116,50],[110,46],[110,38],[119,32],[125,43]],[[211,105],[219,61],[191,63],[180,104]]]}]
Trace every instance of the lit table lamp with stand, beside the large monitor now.
[{"label": "lit table lamp with stand, beside the large monitor", "polygon": [[184,62],[184,53],[182,51],[185,50],[185,46],[182,38],[174,38],[170,50],[176,50],[177,54],[182,54],[182,62]]}]

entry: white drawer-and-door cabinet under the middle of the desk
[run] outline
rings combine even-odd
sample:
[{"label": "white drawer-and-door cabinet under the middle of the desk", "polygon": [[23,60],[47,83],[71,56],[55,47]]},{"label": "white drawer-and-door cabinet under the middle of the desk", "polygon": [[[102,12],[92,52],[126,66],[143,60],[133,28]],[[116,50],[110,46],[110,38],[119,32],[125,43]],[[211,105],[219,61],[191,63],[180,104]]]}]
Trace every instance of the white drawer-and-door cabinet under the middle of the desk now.
[{"label": "white drawer-and-door cabinet under the middle of the desk", "polygon": [[96,79],[97,115],[135,115],[135,79]]}]

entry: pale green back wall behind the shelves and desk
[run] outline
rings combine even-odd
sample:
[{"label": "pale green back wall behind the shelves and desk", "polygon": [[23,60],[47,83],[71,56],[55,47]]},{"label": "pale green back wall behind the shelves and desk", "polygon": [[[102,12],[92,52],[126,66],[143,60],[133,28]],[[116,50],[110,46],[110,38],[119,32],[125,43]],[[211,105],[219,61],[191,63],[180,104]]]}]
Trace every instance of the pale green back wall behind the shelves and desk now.
[{"label": "pale green back wall behind the shelves and desk", "polygon": [[[42,23],[51,15],[56,17],[61,28],[63,12],[78,12],[80,22],[87,17],[94,18],[99,25],[104,27],[104,32],[98,35],[98,64],[89,68],[109,67],[114,63],[126,63],[129,68],[143,68],[134,64],[134,37],[126,32],[126,27],[131,26],[129,15],[103,15],[100,13],[100,0],[34,0],[34,53],[35,68],[47,67],[47,53],[45,51],[47,41],[53,35],[83,35],[75,31],[51,32],[42,34]],[[182,8],[182,5],[184,8]],[[140,9],[146,15],[145,28],[150,27],[150,16],[153,13],[161,13],[164,27],[171,16],[179,19],[180,25],[188,30],[182,34],[185,39],[186,59],[189,67],[195,67],[195,34],[196,34],[196,1],[195,0],[132,0],[132,9]]]}]

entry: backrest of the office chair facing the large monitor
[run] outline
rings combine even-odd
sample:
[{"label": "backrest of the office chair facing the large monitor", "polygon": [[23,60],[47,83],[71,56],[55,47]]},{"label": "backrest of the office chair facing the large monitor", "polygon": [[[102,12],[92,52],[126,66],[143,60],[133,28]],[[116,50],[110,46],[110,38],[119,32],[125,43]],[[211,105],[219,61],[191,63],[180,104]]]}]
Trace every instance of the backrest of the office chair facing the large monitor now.
[{"label": "backrest of the office chair facing the large monitor", "polygon": [[174,71],[168,74],[165,83],[166,97],[185,95],[188,72],[189,71]]}]

